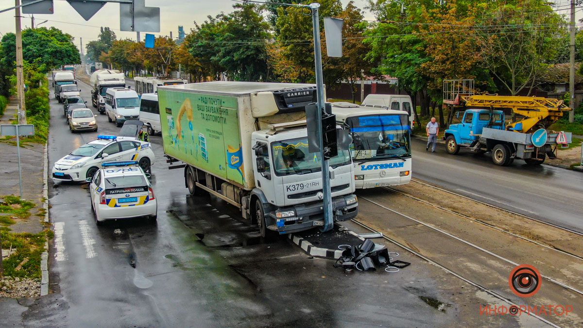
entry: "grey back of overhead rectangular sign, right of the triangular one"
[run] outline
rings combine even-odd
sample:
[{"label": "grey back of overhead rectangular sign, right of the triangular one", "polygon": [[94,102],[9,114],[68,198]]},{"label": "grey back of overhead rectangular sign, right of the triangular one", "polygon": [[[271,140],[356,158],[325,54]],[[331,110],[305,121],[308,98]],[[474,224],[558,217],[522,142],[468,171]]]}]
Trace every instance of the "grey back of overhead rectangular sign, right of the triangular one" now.
[{"label": "grey back of overhead rectangular sign, right of the triangular one", "polygon": [[120,4],[120,30],[160,32],[160,8],[146,7],[145,0],[134,0],[134,5]]}]

